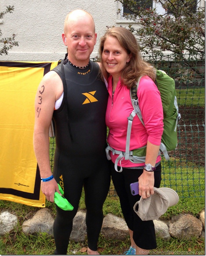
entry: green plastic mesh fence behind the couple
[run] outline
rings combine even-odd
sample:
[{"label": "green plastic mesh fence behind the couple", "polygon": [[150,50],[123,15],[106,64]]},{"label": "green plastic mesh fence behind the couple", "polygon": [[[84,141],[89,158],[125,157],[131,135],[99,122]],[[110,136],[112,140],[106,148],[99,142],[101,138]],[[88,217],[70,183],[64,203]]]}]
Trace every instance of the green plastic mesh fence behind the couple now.
[{"label": "green plastic mesh fence behind the couple", "polygon": [[[170,160],[162,157],[162,187],[170,187],[180,197],[205,196],[205,55],[144,56],[158,69],[175,79],[181,119],[178,122],[177,149],[169,152]],[[55,139],[51,138],[51,166]],[[116,196],[111,183],[109,196]]]}]

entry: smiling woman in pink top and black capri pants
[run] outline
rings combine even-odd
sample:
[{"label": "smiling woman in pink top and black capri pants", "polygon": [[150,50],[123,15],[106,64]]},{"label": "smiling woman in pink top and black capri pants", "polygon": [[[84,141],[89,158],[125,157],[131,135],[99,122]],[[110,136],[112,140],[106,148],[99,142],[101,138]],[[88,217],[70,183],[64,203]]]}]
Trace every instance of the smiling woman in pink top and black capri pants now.
[{"label": "smiling woman in pink top and black capri pants", "polygon": [[[159,146],[163,133],[163,110],[160,93],[154,83],[154,68],[140,55],[139,45],[134,35],[122,27],[109,29],[100,41],[101,68],[108,78],[109,99],[106,111],[106,124],[109,127],[107,138],[112,148],[112,180],[120,198],[124,219],[129,229],[131,246],[125,254],[148,254],[156,248],[153,221],[142,221],[134,212],[133,206],[140,197],[154,194],[154,187],[161,182]],[[140,79],[137,96],[145,126],[136,115],[132,122],[130,148],[147,146],[145,162],[115,161],[119,152],[125,153],[128,117],[133,111],[130,88]],[[116,154],[118,153],[118,154]],[[139,181],[139,194],[132,195],[130,183]]]}]

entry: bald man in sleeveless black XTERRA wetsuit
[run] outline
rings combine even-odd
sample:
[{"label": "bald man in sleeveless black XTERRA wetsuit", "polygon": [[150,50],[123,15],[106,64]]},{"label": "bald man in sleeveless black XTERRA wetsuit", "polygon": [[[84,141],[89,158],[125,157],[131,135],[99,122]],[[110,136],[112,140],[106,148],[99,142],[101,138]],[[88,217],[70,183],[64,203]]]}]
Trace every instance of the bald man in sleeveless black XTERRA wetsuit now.
[{"label": "bald man in sleeveless black XTERRA wetsuit", "polygon": [[[83,10],[70,12],[64,23],[63,42],[68,56],[47,73],[35,99],[34,150],[42,178],[42,191],[54,202],[59,183],[74,207],[64,211],[56,206],[53,232],[54,254],[67,254],[72,222],[84,186],[86,204],[87,254],[99,254],[97,242],[103,221],[103,203],[110,186],[106,159],[105,112],[108,92],[99,76],[99,65],[89,60],[96,43],[94,21]],[[56,150],[53,175],[49,157],[49,127],[55,123]],[[54,178],[53,178],[54,177]]]}]

